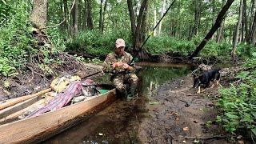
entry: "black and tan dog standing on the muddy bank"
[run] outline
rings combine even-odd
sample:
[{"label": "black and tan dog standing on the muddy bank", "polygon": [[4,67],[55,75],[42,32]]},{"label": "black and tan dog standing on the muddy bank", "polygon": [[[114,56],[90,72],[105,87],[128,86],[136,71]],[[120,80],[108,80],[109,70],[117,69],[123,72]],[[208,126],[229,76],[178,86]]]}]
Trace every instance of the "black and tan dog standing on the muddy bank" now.
[{"label": "black and tan dog standing on the muddy bank", "polygon": [[[194,88],[198,88],[197,94],[201,93],[201,87],[206,88],[210,85],[210,82],[216,82],[216,86],[218,85],[219,78],[220,78],[220,73],[219,70],[221,69],[216,69],[216,70],[207,70],[206,72],[202,73],[199,77],[194,76]],[[214,87],[214,83],[211,86],[211,88]]]}]

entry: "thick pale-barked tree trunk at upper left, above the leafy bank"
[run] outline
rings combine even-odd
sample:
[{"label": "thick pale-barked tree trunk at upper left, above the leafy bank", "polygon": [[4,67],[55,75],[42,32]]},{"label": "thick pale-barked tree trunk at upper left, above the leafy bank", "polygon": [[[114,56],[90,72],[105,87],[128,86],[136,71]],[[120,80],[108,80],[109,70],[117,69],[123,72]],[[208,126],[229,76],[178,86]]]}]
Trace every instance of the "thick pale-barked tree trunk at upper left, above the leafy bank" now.
[{"label": "thick pale-barked tree trunk at upper left, above the leafy bank", "polygon": [[39,29],[46,27],[47,12],[48,0],[34,0],[30,21]]}]

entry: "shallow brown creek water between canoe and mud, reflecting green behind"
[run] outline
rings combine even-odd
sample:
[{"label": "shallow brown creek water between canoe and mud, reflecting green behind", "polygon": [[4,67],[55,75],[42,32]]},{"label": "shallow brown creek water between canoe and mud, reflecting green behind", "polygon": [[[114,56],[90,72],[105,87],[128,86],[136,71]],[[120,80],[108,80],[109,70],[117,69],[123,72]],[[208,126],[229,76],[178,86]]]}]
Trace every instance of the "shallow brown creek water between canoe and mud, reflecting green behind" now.
[{"label": "shallow brown creek water between canoe and mud, reflecting green behind", "polygon": [[147,106],[154,104],[149,101],[151,95],[163,82],[190,73],[186,65],[143,62],[138,66],[143,67],[138,72],[138,98],[132,102],[118,99],[105,110],[42,143],[138,143],[138,126],[143,118],[149,118]]}]

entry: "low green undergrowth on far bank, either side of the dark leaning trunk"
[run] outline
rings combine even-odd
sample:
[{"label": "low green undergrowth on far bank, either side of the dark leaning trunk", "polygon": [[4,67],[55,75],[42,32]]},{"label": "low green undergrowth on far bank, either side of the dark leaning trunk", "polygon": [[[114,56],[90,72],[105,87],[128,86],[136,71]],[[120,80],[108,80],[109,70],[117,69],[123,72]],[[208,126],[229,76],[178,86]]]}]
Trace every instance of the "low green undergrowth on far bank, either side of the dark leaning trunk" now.
[{"label": "low green undergrowth on far bank, either side of the dark leaning trunk", "polygon": [[[201,40],[202,38],[198,37],[194,37],[191,41],[179,40],[178,38],[172,38],[169,36],[152,37],[146,43],[145,48],[150,54],[173,52],[186,56],[195,50]],[[200,55],[205,58],[217,56],[230,57],[231,50],[232,46],[225,42],[220,44],[216,42],[209,42],[202,49]]]}]

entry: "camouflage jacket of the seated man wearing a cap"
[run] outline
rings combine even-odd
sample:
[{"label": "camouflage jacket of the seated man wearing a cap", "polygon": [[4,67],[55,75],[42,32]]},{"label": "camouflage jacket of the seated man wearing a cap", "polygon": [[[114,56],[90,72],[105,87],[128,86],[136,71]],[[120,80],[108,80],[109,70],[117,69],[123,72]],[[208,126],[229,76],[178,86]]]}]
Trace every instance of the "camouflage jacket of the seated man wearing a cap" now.
[{"label": "camouflage jacket of the seated man wearing a cap", "polygon": [[[131,54],[127,53],[127,52],[125,52],[125,54],[123,54],[121,57],[119,57],[114,52],[110,53],[110,54],[108,54],[106,56],[106,59],[104,61],[103,71],[110,72],[110,74],[112,74],[112,75],[120,73],[122,71],[126,71],[126,70],[123,70],[122,68],[119,68],[119,67],[113,68],[112,65],[113,65],[114,62],[126,62],[127,64],[130,64],[130,61],[132,59],[133,59],[133,56]],[[133,70],[130,71],[130,72],[134,73],[134,71],[135,71],[135,68],[134,68],[135,63],[131,62],[130,66],[133,67]]]}]

